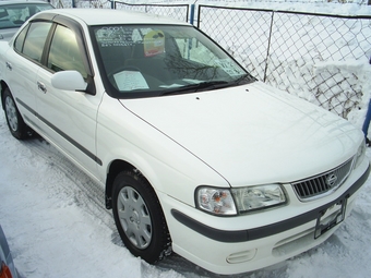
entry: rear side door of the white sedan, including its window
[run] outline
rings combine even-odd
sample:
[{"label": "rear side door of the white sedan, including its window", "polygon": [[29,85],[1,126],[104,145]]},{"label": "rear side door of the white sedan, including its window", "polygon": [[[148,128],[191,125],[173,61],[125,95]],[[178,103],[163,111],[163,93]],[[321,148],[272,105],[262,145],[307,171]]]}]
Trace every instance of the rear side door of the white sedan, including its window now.
[{"label": "rear side door of the white sedan, including its window", "polygon": [[5,55],[7,83],[23,119],[33,128],[37,125],[36,76],[41,67],[43,49],[51,25],[50,22],[35,22],[25,26],[15,38],[13,48]]}]

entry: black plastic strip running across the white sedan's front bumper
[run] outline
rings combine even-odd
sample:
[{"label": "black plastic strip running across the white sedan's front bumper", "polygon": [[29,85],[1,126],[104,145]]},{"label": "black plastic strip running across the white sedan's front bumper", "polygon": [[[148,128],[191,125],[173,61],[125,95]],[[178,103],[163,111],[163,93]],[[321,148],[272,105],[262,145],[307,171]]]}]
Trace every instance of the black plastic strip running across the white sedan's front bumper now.
[{"label": "black plastic strip running across the white sedan's front bumper", "polygon": [[290,219],[286,219],[284,221],[279,221],[279,222],[267,225],[267,226],[262,226],[262,227],[250,229],[250,230],[239,230],[239,231],[218,230],[218,229],[208,227],[202,222],[199,222],[177,209],[171,209],[171,215],[182,225],[215,241],[238,243],[238,242],[244,242],[244,241],[251,241],[251,240],[259,240],[259,239],[263,239],[263,238],[266,238],[273,234],[277,234],[279,232],[290,230],[292,228],[304,225],[309,221],[315,220],[322,210],[327,209],[334,204],[339,203],[342,200],[348,198],[352,194],[355,194],[367,181],[369,174],[370,174],[370,165],[368,169],[364,171],[364,173],[337,200],[331,203],[327,203],[326,205],[323,205],[321,207],[318,207],[311,211],[308,211],[306,214],[292,217]]}]

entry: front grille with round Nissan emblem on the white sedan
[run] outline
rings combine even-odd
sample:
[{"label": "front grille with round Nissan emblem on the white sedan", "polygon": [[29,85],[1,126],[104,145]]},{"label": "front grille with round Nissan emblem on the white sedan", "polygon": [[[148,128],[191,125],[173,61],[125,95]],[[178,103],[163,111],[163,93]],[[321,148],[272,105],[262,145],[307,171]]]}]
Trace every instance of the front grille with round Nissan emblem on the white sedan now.
[{"label": "front grille with round Nissan emblem on the white sedan", "polygon": [[349,159],[345,164],[336,167],[335,169],[292,183],[292,188],[297,196],[301,201],[310,201],[311,198],[318,198],[338,189],[345,180],[348,178],[352,170],[354,159]]}]

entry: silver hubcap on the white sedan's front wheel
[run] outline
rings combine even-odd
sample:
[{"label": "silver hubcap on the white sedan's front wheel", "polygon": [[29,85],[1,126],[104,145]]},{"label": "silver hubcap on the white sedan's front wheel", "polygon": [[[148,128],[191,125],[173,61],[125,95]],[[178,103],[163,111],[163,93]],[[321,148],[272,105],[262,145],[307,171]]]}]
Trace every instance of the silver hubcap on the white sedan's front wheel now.
[{"label": "silver hubcap on the white sedan's front wheel", "polygon": [[137,249],[146,249],[152,240],[152,221],[142,196],[133,188],[121,189],[117,201],[121,227]]}]

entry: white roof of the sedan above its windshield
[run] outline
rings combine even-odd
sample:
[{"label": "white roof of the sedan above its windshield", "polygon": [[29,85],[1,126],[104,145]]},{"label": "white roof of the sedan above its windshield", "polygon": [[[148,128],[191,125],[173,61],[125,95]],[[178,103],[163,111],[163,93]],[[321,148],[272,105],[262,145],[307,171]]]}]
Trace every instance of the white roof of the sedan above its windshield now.
[{"label": "white roof of the sedan above its windshield", "polygon": [[85,22],[87,25],[105,25],[105,24],[170,24],[170,25],[190,25],[175,19],[165,17],[155,14],[112,10],[112,9],[56,9],[40,12],[41,14],[60,14],[74,20]]}]

